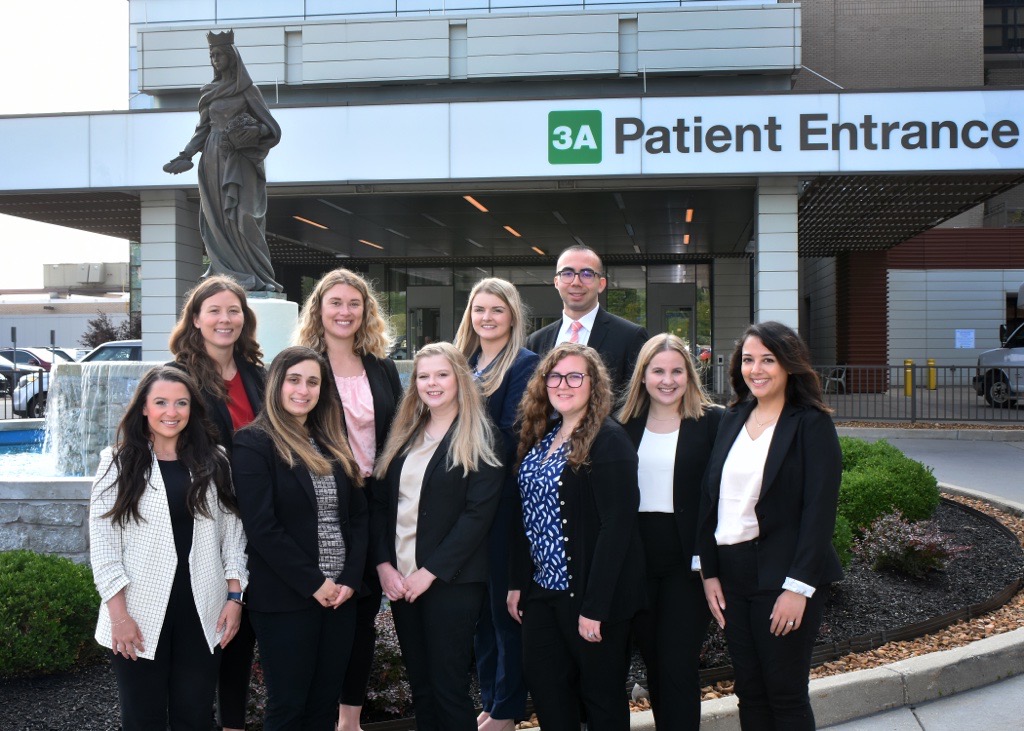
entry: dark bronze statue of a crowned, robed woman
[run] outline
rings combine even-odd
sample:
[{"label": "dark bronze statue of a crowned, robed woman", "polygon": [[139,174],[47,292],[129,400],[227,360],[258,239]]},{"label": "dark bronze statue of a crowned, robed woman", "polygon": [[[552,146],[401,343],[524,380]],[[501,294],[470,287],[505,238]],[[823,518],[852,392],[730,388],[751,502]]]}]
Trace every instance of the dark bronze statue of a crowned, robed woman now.
[{"label": "dark bronze statue of a crowned, robed woman", "polygon": [[196,134],[164,172],[191,170],[199,162],[200,232],[210,267],[250,292],[281,292],[266,245],[266,171],[263,160],[281,141],[281,127],[246,71],[234,32],[208,33],[213,81],[199,99]]}]

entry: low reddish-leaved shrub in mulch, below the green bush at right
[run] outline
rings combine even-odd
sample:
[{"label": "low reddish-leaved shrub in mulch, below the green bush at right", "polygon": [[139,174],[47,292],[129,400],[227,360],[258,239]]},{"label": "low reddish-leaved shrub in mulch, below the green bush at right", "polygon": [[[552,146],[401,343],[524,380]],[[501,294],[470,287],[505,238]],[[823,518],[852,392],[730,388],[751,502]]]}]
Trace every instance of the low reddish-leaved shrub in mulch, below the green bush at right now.
[{"label": "low reddish-leaved shrub in mulch, below the green bush at right", "polygon": [[954,544],[934,521],[911,523],[898,511],[871,523],[854,548],[876,571],[889,569],[915,578],[945,568],[946,561],[962,551],[967,548]]}]

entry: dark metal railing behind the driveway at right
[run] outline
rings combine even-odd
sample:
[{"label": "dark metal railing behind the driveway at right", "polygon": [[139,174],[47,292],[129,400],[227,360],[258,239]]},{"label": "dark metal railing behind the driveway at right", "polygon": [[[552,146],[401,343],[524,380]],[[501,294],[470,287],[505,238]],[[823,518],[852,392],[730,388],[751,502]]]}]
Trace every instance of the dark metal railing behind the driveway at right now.
[{"label": "dark metal railing behind the driveway at right", "polygon": [[[709,390],[717,400],[727,399],[726,367],[710,370]],[[974,365],[937,363],[815,365],[815,370],[837,421],[1024,424],[1024,367],[988,374]]]}]

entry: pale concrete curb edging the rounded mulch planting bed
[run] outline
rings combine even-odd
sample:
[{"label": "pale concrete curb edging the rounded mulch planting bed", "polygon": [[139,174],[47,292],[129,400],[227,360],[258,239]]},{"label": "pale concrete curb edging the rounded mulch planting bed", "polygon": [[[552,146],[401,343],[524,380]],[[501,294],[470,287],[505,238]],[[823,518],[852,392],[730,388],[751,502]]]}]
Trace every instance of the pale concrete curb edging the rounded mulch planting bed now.
[{"label": "pale concrete curb edging the rounded mulch planting bed", "polygon": [[[1024,515],[1024,505],[1020,503],[946,483],[940,483],[939,487],[946,492],[984,500],[1015,515]],[[811,705],[815,722],[822,728],[944,698],[1022,674],[1024,628],[881,668],[817,678],[810,683]],[[631,731],[654,731],[654,716],[650,711],[631,715]],[[706,700],[700,704],[701,731],[735,731],[738,728],[736,696]]]}]

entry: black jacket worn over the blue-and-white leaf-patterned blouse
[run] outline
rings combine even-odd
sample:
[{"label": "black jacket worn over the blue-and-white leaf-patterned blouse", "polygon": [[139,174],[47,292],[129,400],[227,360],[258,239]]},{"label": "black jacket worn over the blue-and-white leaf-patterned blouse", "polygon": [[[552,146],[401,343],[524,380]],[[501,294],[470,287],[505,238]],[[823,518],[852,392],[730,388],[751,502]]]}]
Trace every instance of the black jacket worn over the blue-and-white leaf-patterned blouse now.
[{"label": "black jacket worn over the blue-and-white leaf-patterned blouse", "polygon": [[[626,431],[605,419],[590,449],[590,463],[566,465],[558,488],[562,535],[568,558],[569,599],[588,619],[629,619],[646,603],[643,547],[637,529],[637,453]],[[529,598],[534,562],[522,522],[513,526],[509,586]]]}]

